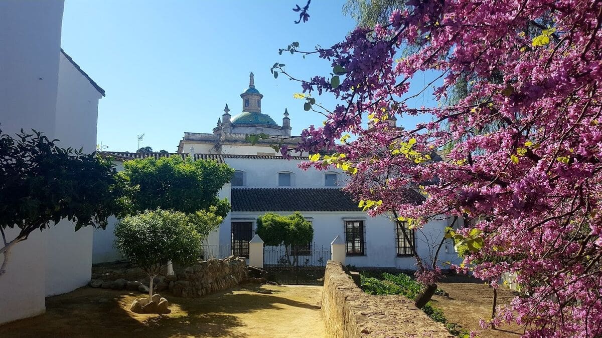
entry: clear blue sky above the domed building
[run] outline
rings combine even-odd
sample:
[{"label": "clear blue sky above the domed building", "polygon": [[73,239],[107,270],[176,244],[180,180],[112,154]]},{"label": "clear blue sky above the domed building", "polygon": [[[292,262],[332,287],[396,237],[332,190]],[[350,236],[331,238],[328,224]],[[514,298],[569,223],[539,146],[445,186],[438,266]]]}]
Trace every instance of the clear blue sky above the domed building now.
[{"label": "clear blue sky above the domed building", "polygon": [[[327,75],[327,61],[278,55],[278,49],[292,41],[304,50],[330,46],[354,22],[341,13],[343,0],[328,0],[312,2],[309,22],[296,25],[291,8],[297,3],[305,0],[67,0],[61,45],[107,92],[99,103],[98,142],[134,152],[144,133],[141,146],[175,152],[184,132],[211,132],[226,103],[232,115],[241,111],[250,71],[264,94],[262,112],[280,124],[288,108],[295,135],[321,124],[320,115],[293,99],[299,84],[274,79],[270,67],[278,61],[300,78]],[[427,96],[415,103],[431,103]],[[335,104],[332,97],[318,102]]]}]

